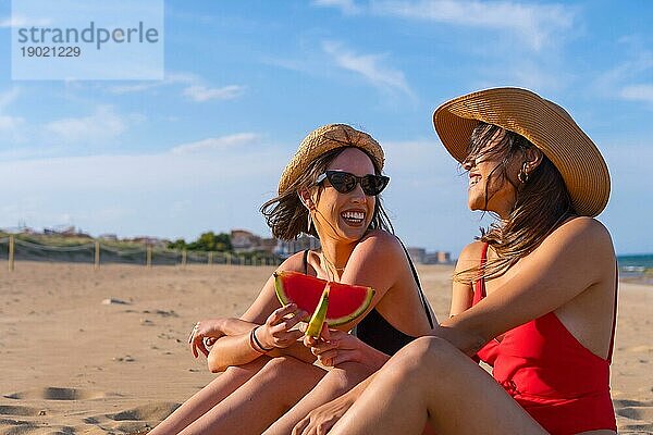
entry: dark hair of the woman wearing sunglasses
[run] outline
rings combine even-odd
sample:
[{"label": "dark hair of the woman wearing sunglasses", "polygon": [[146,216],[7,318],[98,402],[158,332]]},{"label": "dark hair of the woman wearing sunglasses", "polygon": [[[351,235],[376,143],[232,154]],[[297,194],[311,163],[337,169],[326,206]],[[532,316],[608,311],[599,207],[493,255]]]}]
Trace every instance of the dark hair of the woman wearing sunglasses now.
[{"label": "dark hair of the woman wearing sunglasses", "polygon": [[[318,177],[323,174],[326,171],[326,167],[329,167],[329,164],[331,164],[331,162],[347,148],[354,147],[335,148],[318,157],[310,162],[306,172],[295,179],[285,191],[282,191],[279,196],[261,206],[261,213],[266,216],[266,222],[270,229],[272,229],[272,235],[274,237],[282,240],[293,240],[301,233],[307,233],[308,209],[299,200],[299,190],[316,186]],[[365,150],[360,150],[365,152]],[[370,157],[370,160],[374,165],[374,173],[381,175],[381,169],[377,166],[374,159]],[[318,200],[320,199],[321,192],[322,187],[319,187]],[[377,196],[372,221],[368,226],[368,229],[377,228],[394,234],[394,228],[387,213],[383,209],[380,195]],[[310,229],[310,235],[319,237],[315,225],[312,225]]]}]

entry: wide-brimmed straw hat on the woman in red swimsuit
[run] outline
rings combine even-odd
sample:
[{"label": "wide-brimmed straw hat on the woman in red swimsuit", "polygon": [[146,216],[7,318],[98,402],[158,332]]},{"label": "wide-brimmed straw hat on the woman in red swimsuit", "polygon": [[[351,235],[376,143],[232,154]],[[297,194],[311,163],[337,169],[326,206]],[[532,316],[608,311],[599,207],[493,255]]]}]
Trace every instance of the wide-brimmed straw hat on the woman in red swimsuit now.
[{"label": "wide-brimmed straw hat on the woman in red swimsuit", "polygon": [[562,174],[579,215],[595,216],[605,209],[609,198],[605,160],[563,108],[530,90],[506,87],[454,98],[433,113],[440,140],[460,163],[480,121],[517,133],[542,150]]}]

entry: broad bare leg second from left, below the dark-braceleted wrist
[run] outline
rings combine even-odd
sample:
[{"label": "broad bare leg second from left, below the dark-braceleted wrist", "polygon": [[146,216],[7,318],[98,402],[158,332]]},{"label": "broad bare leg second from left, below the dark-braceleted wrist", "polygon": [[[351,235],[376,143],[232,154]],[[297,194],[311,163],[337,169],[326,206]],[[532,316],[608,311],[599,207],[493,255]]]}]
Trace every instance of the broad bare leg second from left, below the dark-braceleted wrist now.
[{"label": "broad bare leg second from left, below the dark-braceleted wrist", "polygon": [[180,434],[259,435],[313,388],[324,373],[292,357],[273,358]]}]

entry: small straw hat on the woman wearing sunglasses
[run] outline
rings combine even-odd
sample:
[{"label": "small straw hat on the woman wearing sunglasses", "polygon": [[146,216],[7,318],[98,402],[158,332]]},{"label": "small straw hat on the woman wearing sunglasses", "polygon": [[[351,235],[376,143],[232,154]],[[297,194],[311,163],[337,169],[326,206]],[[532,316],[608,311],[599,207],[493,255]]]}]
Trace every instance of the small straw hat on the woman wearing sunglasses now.
[{"label": "small straw hat on the woman wearing sunglasses", "polygon": [[328,124],[310,132],[301,140],[297,152],[281,174],[279,192],[285,191],[318,157],[343,147],[360,148],[372,158],[379,170],[383,169],[383,149],[373,137],[346,124]]}]

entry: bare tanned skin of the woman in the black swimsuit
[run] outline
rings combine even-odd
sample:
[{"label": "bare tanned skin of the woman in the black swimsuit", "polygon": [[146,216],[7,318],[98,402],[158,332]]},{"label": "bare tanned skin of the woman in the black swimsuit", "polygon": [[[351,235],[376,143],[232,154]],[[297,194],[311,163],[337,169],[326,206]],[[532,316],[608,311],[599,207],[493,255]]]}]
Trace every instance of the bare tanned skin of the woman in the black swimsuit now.
[{"label": "bare tanned skin of the woman in the black swimsuit", "polygon": [[[329,169],[359,176],[374,173],[369,157],[354,148],[344,150]],[[322,245],[322,251],[308,257],[309,274],[374,288],[369,310],[375,307],[405,334],[427,335],[430,325],[399,241],[383,231],[367,231],[375,198],[366,196],[360,185],[340,194],[328,182],[299,195],[311,210]],[[343,216],[350,211],[362,212],[364,222]],[[278,270],[304,272],[301,258],[299,252]],[[239,319],[198,322],[189,339],[194,353],[207,355],[209,370],[224,373],[150,434],[287,434],[310,410],[342,395],[389,360],[346,333],[362,316],[323,331],[322,339],[305,345],[295,326],[306,314],[294,306],[280,308],[271,277]],[[259,325],[258,340],[273,349],[266,355],[249,344],[250,331]],[[205,339],[213,345],[210,351]],[[313,365],[316,359],[323,368]]]}]

